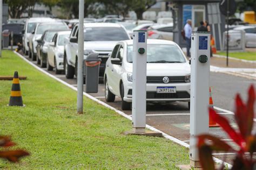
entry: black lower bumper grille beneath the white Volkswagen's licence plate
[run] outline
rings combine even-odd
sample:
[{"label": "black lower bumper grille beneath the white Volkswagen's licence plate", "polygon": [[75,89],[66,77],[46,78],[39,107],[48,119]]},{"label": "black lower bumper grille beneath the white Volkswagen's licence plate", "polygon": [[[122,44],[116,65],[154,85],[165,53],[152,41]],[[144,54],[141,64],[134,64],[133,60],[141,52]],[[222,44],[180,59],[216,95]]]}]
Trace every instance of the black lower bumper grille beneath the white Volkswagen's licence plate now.
[{"label": "black lower bumper grille beneath the white Volkswagen's licence plate", "polygon": [[[132,95],[132,90],[129,89],[128,95]],[[147,92],[147,98],[190,98],[190,94],[187,91],[177,91],[177,93],[156,93],[156,92]]]}]

